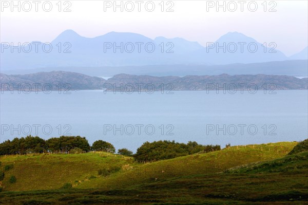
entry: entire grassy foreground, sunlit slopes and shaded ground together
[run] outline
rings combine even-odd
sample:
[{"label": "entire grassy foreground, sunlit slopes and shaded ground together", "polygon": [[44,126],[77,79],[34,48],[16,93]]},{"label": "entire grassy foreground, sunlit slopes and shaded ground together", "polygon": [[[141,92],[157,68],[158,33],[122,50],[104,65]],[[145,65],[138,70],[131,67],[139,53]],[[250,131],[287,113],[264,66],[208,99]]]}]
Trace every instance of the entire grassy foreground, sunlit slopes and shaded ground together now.
[{"label": "entire grassy foreground, sunlit slopes and shaded ground together", "polygon": [[[14,167],[5,172],[0,203],[308,204],[308,152],[287,155],[296,144],[233,146],[146,164],[107,153],[6,156],[1,167]],[[17,175],[20,166],[41,171]],[[105,167],[121,169],[98,176]],[[73,188],[61,189],[66,182]]]}]

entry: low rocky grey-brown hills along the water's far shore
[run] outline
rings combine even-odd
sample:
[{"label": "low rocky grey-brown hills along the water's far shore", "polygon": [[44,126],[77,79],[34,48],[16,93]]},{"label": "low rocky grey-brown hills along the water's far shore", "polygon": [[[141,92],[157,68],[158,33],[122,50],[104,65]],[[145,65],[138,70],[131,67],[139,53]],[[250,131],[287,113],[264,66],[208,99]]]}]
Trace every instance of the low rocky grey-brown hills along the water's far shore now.
[{"label": "low rocky grey-brown hills along the water's far shore", "polygon": [[[64,71],[38,72],[25,75],[7,75],[0,73],[1,90],[11,90],[20,87],[21,90],[85,90],[105,89],[118,91],[156,90],[216,90],[220,87],[226,90],[246,89],[307,89],[308,79],[291,76],[274,75],[235,75],[220,74],[218,76],[185,76],[185,77],[153,77],[117,74],[105,80],[90,77],[85,74]],[[35,87],[35,84],[40,84]],[[44,86],[44,85],[48,86]],[[251,85],[251,86],[249,86]]]}]

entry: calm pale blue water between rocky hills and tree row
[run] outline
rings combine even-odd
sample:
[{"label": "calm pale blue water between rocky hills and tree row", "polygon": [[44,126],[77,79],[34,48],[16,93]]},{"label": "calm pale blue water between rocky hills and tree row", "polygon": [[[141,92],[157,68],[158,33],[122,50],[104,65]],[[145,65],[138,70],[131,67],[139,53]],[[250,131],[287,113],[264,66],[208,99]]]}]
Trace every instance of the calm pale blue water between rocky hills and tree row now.
[{"label": "calm pale blue water between rocky hills and tree row", "polygon": [[303,140],[308,136],[307,90],[277,94],[216,91],[135,92],[101,90],[71,94],[1,94],[1,142],[28,134],[48,139],[85,136],[136,149],[145,141],[197,141],[232,145]]}]

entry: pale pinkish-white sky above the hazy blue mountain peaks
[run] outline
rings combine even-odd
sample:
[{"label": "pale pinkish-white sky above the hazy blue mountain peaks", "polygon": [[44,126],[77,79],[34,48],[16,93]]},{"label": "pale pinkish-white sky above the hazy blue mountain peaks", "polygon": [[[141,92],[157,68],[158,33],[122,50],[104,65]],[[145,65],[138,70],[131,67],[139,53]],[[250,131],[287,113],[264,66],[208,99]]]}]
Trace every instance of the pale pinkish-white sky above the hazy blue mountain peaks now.
[{"label": "pale pinkish-white sky above the hazy blue mountain peaks", "polygon": [[275,42],[287,56],[308,45],[305,0],[117,1],[117,5],[122,2],[123,11],[114,8],[114,1],[38,2],[14,1],[17,7],[12,7],[11,1],[0,1],[1,42],[51,42],[64,30],[72,29],[88,38],[111,31],[133,32],[151,39],[180,37],[203,46],[237,31],[262,44]]}]

